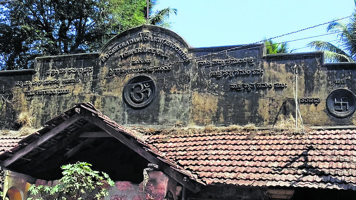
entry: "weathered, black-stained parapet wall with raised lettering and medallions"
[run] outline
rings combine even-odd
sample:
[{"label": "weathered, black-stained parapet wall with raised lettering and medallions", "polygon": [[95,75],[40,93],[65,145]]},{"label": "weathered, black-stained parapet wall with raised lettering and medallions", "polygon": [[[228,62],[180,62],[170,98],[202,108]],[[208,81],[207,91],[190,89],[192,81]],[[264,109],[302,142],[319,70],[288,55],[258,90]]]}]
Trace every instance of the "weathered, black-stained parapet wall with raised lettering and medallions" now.
[{"label": "weathered, black-stained parapet wall with raised lettering and medallions", "polygon": [[[142,25],[98,53],[40,57],[34,74],[0,73],[0,118],[9,119],[0,127],[11,128],[23,110],[40,126],[83,101],[123,125],[273,125],[295,112],[294,66],[305,123],[355,124],[352,63],[324,64],[322,52],[264,52],[263,44],[192,48],[172,31]],[[9,88],[17,89],[1,91]]]}]

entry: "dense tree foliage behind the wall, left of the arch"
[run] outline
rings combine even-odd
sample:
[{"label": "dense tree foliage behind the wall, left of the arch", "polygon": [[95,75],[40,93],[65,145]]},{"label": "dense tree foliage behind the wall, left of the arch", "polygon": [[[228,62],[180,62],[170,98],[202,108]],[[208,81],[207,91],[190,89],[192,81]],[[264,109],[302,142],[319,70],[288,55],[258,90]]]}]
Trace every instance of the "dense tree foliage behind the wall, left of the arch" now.
[{"label": "dense tree foliage behind the wall, left of the arch", "polygon": [[145,23],[145,0],[20,0],[0,7],[0,69],[32,68],[35,57],[98,51]]}]

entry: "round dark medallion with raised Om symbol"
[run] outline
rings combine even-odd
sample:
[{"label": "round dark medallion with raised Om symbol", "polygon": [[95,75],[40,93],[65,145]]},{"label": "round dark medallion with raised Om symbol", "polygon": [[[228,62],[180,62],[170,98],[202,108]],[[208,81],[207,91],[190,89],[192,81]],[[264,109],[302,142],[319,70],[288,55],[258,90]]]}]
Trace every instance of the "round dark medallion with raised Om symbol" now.
[{"label": "round dark medallion with raised Om symbol", "polygon": [[126,103],[133,108],[143,108],[155,97],[156,84],[151,77],[138,75],[131,78],[122,90]]}]

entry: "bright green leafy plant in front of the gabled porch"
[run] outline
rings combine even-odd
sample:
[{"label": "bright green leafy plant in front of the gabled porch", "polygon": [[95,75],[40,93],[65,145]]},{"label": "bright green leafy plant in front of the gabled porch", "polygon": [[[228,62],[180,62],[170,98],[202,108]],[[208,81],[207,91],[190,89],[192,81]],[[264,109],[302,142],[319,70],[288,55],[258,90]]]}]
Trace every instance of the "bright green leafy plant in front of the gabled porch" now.
[{"label": "bright green leafy plant in front of the gabled porch", "polygon": [[91,164],[85,162],[62,166],[63,177],[57,185],[31,185],[29,191],[36,197],[29,197],[27,200],[104,198],[109,195],[108,188],[114,186],[114,181],[109,178],[108,174],[101,172],[101,175],[98,171],[92,170],[90,166]]}]

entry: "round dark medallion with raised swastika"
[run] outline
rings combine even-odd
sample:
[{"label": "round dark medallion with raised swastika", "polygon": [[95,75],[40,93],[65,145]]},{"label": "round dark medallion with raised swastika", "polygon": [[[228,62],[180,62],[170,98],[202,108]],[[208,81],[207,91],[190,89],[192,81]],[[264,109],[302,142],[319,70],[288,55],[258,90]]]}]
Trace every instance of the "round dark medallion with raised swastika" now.
[{"label": "round dark medallion with raised swastika", "polygon": [[326,108],[335,117],[348,117],[356,110],[356,96],[348,89],[336,89],[326,98]]}]

